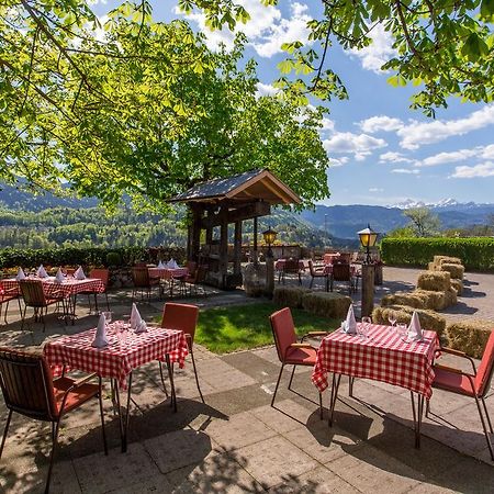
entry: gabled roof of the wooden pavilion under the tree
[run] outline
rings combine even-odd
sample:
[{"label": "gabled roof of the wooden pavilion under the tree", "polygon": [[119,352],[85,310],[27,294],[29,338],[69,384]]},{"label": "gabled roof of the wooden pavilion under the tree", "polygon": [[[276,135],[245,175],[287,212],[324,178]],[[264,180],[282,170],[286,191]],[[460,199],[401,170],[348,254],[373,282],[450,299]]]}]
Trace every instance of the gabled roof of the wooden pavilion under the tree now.
[{"label": "gabled roof of the wooden pavilion under the tree", "polygon": [[197,183],[191,189],[170,199],[169,202],[217,203],[255,202],[270,204],[299,204],[301,199],[290,187],[269,170],[251,170],[233,177]]}]

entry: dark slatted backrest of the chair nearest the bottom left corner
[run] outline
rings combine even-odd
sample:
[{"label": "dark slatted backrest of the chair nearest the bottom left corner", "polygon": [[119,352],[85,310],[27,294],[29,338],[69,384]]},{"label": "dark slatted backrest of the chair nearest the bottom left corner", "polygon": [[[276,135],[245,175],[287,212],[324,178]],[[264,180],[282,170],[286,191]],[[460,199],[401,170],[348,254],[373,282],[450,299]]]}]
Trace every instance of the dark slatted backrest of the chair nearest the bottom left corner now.
[{"label": "dark slatted backrest of the chair nearest the bottom left corner", "polygon": [[0,385],[8,408],[40,420],[57,418],[53,375],[42,353],[0,348]]}]

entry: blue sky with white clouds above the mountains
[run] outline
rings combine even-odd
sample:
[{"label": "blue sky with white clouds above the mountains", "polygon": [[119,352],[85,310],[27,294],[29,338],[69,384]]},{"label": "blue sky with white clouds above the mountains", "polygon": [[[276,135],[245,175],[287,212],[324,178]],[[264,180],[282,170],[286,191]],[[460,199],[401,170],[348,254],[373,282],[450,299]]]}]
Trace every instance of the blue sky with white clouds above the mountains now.
[{"label": "blue sky with white clouds above the mountains", "polygon": [[[249,40],[245,56],[258,61],[259,91],[269,92],[279,77],[277,64],[284,58],[281,44],[307,41],[305,24],[321,1],[280,0],[268,9],[259,0],[240,2],[251,14],[240,27]],[[92,8],[103,16],[117,3],[93,0]],[[151,3],[156,20],[180,16],[175,1]],[[204,31],[211,47],[233,40],[227,31],[211,33],[200,13],[188,20]],[[383,31],[374,32],[371,47],[360,53],[333,49],[327,61],[350,99],[325,104],[330,114],[321,136],[333,165],[327,171],[332,197],[323,203],[494,202],[494,104],[451,99],[435,120],[409,110],[413,90],[388,85],[391,74],[380,66],[392,53],[391,42]]]}]

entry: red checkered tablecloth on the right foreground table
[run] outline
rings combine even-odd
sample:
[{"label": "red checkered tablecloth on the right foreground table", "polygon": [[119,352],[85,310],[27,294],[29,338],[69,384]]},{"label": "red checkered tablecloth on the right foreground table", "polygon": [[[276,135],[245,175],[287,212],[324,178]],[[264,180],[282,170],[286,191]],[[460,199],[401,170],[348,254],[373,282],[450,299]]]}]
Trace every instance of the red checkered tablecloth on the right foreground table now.
[{"label": "red checkered tablecloth on the right foreground table", "polygon": [[435,332],[424,332],[424,341],[405,343],[390,326],[372,325],[369,338],[340,329],[321,341],[312,382],[324,391],[328,372],[384,381],[429,398],[433,394],[433,360],[439,341]]}]

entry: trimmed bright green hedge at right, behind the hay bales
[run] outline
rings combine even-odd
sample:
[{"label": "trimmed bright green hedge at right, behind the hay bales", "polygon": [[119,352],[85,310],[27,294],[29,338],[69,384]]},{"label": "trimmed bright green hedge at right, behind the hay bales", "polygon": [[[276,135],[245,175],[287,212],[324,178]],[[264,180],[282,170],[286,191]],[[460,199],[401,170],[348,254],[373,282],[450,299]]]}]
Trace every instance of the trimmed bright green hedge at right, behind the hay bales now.
[{"label": "trimmed bright green hedge at right, behind the hay bales", "polygon": [[494,271],[494,238],[383,238],[386,265],[425,267],[434,256],[459,257],[467,270]]}]

